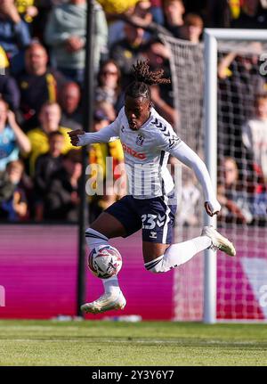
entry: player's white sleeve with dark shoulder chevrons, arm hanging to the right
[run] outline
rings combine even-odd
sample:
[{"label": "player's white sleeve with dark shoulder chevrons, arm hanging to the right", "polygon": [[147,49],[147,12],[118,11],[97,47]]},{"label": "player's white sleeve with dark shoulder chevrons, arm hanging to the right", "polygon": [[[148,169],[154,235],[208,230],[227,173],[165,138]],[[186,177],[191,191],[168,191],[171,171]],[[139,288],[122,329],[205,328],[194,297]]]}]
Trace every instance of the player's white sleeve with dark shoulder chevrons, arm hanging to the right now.
[{"label": "player's white sleeve with dark shoulder chevrons, arm hanging to the right", "polygon": [[199,158],[196,152],[183,143],[182,140],[175,134],[172,127],[168,127],[166,131],[161,129],[158,135],[159,149],[168,151],[176,159],[182,161],[183,164],[190,167],[201,184],[205,201],[208,201],[212,212],[221,210],[221,205],[216,199],[211,178],[207,172],[205,163]]}]

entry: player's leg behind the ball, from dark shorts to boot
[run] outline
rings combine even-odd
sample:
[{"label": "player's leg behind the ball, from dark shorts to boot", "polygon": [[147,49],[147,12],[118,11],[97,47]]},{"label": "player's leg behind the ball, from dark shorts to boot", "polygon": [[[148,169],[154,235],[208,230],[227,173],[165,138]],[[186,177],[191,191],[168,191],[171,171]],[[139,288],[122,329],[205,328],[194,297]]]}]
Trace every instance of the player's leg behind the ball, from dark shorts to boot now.
[{"label": "player's leg behind the ball, from dark shorts to boot", "polygon": [[[126,237],[138,231],[141,226],[140,218],[131,209],[131,197],[125,196],[125,198],[118,200],[106,209],[85,231],[86,242],[89,249],[100,245],[108,245],[109,239],[119,236]],[[83,311],[96,314],[125,307],[126,300],[119,288],[117,276],[102,279],[102,282],[105,290],[104,294],[101,298],[82,306]]]}]

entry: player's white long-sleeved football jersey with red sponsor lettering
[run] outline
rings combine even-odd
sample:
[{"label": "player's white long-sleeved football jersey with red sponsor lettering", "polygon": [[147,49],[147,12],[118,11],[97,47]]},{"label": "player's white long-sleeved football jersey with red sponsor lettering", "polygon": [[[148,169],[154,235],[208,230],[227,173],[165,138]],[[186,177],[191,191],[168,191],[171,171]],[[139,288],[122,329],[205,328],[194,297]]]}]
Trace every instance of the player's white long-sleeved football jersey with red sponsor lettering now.
[{"label": "player's white long-sleeved football jersey with red sponsor lettering", "polygon": [[171,154],[193,169],[212,211],[221,209],[204,162],[182,142],[173,127],[154,108],[150,110],[150,118],[136,131],[129,127],[125,108],[122,108],[108,127],[78,135],[78,138],[77,145],[120,139],[125,154],[128,193],[136,199],[164,196],[174,189],[173,178],[166,167]]}]

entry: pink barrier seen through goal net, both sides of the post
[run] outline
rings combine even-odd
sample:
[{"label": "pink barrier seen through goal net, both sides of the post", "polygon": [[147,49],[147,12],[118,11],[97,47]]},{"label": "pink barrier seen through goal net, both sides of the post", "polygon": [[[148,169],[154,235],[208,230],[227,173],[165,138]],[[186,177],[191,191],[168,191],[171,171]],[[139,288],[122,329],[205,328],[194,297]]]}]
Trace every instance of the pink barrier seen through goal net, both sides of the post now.
[{"label": "pink barrier seen through goal net, both sides of the post", "polygon": [[[237,249],[235,257],[217,252],[217,319],[267,321],[267,228],[220,228]],[[197,231],[199,233],[199,231]],[[185,233],[190,238],[197,233]],[[204,255],[175,271],[175,320],[203,319]]]}]

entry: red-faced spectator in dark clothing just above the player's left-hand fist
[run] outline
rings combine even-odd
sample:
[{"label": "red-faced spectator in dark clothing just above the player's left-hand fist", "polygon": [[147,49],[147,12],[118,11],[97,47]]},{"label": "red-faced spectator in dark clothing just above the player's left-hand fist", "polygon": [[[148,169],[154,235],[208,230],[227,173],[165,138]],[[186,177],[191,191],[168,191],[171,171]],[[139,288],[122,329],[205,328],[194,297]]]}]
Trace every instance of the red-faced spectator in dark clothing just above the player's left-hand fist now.
[{"label": "red-faced spectator in dark clothing just above the player's left-hand fist", "polygon": [[82,129],[80,110],[81,91],[77,83],[68,82],[61,88],[59,103],[61,105],[61,126],[70,129]]}]

